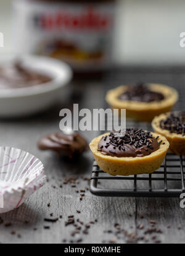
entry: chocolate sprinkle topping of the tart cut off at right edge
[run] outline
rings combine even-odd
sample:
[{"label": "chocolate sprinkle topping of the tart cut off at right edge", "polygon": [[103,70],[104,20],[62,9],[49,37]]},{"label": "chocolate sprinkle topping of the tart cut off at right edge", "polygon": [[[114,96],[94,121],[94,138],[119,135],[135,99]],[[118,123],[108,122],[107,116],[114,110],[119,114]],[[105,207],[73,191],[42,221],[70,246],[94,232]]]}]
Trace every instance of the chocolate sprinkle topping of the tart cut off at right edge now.
[{"label": "chocolate sprinkle topping of the tart cut off at right edge", "polygon": [[176,134],[185,135],[185,111],[175,111],[160,121],[160,127]]}]

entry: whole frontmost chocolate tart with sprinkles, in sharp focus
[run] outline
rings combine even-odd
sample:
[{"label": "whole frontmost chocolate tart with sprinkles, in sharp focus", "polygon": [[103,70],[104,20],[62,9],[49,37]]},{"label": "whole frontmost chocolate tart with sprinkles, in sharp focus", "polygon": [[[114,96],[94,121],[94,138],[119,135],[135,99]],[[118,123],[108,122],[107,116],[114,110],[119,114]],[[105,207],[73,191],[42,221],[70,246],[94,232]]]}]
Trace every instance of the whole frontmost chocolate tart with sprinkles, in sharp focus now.
[{"label": "whole frontmost chocolate tart with sprinkles, in sharp focus", "polygon": [[165,158],[169,143],[162,135],[142,129],[103,134],[89,144],[99,167],[110,175],[153,173]]}]

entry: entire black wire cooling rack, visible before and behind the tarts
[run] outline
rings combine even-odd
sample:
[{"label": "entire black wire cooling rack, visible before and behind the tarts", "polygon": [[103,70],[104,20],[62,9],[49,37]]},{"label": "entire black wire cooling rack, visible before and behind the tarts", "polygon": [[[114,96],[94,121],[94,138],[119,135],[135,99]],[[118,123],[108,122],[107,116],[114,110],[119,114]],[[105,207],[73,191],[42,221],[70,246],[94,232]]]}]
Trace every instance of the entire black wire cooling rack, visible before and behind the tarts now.
[{"label": "entire black wire cooling rack, visible before and behind the tarts", "polygon": [[[134,74],[134,75],[133,75]],[[185,76],[184,69],[167,68],[154,70],[118,70],[110,72],[105,80],[104,90],[113,85],[129,84],[136,81],[162,82],[175,87],[179,92],[179,100],[176,110],[184,110]],[[107,105],[105,105],[107,108]],[[137,127],[138,129],[152,130],[149,123],[126,121],[126,127]],[[167,153],[165,161],[160,169],[152,174],[139,174],[134,176],[110,176],[104,173],[96,161],[93,163],[90,191],[94,195],[109,197],[179,197],[184,189],[184,166],[185,156]]]}]

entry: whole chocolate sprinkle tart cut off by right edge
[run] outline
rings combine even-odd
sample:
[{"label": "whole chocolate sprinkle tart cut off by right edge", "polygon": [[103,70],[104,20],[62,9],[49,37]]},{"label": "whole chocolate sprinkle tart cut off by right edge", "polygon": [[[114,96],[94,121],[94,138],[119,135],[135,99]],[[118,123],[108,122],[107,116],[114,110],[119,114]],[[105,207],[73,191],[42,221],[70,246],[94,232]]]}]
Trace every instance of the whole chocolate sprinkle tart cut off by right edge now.
[{"label": "whole chocolate sprinkle tart cut off by right edge", "polygon": [[185,155],[185,111],[174,111],[156,116],[152,127],[170,142],[169,150],[177,155]]}]

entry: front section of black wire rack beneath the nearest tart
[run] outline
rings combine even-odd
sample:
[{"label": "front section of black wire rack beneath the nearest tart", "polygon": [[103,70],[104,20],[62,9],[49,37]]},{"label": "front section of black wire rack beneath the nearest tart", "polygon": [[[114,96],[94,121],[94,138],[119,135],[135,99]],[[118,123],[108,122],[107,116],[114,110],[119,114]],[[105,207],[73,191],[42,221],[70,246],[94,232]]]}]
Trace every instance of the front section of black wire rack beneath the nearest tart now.
[{"label": "front section of black wire rack beneath the nearest tart", "polygon": [[104,197],[179,197],[185,192],[184,161],[183,156],[167,153],[160,169],[133,176],[110,176],[94,161],[90,191]]}]

